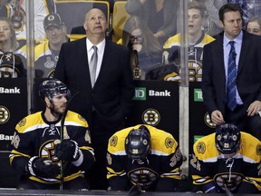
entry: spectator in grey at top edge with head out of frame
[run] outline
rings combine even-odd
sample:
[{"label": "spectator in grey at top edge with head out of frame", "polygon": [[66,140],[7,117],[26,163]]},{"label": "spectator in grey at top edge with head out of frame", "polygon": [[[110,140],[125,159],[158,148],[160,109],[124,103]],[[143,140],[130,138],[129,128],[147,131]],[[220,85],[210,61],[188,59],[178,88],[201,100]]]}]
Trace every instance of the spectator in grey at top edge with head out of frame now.
[{"label": "spectator in grey at top edge with head out of frame", "polygon": [[144,20],[161,45],[177,32],[178,7],[179,1],[173,0],[127,0],[125,6],[130,15]]}]

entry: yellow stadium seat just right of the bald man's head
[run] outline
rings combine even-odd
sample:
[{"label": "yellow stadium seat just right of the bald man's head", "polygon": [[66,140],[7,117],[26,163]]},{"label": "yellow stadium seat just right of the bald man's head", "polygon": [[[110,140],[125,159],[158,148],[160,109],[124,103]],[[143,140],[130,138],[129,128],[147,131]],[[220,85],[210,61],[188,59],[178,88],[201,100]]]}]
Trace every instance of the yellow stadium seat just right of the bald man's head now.
[{"label": "yellow stadium seat just right of the bald man's head", "polygon": [[122,37],[124,25],[130,15],[125,10],[127,1],[117,1],[114,3],[112,13],[112,41],[117,43]]}]

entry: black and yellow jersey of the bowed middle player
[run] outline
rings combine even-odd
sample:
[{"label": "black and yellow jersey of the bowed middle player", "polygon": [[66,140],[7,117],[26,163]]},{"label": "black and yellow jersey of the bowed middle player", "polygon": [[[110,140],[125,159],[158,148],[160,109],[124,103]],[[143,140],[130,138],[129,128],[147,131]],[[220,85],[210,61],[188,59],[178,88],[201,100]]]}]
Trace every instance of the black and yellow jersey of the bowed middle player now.
[{"label": "black and yellow jersey of the bowed middle player", "polygon": [[111,189],[127,191],[131,184],[139,184],[143,190],[157,191],[159,187],[161,191],[174,191],[182,163],[178,142],[169,132],[146,125],[150,131],[150,153],[146,160],[133,161],[125,152],[125,138],[139,127],[129,127],[111,136],[107,153],[107,179]]}]

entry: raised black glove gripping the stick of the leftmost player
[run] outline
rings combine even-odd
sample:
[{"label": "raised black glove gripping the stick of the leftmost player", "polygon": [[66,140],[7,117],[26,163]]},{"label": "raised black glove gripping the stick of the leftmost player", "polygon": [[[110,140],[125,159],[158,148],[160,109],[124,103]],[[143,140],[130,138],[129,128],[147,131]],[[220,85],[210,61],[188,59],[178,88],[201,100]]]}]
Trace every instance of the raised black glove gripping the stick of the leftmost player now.
[{"label": "raised black glove gripping the stick of the leftmost player", "polygon": [[80,157],[78,143],[73,140],[64,140],[55,145],[54,155],[62,161],[75,162]]}]

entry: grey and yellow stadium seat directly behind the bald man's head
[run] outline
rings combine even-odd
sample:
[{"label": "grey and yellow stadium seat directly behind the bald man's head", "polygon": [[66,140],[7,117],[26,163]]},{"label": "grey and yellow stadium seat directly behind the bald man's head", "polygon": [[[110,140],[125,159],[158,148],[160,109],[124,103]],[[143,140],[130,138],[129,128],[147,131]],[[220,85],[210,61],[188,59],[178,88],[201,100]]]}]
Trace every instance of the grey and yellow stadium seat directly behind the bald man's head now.
[{"label": "grey and yellow stadium seat directly behind the bald man's head", "polygon": [[70,40],[76,40],[86,36],[86,34],[70,34],[73,27],[81,27],[84,23],[86,13],[92,8],[101,9],[107,17],[108,28],[110,21],[110,5],[106,1],[90,0],[59,0],[55,2],[57,14],[67,27]]}]

